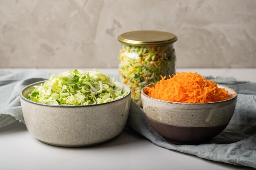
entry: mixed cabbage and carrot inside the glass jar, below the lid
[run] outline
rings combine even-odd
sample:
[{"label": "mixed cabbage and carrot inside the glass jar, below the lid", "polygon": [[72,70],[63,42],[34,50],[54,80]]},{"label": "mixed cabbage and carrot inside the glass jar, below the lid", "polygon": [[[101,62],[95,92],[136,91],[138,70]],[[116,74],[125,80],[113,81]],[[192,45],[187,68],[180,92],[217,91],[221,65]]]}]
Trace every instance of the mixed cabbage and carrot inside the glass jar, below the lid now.
[{"label": "mixed cabbage and carrot inside the glass jar, below the lid", "polygon": [[159,81],[160,75],[175,74],[175,63],[173,44],[162,46],[122,44],[119,51],[120,82],[130,86],[131,99],[141,106],[141,89],[147,84]]}]

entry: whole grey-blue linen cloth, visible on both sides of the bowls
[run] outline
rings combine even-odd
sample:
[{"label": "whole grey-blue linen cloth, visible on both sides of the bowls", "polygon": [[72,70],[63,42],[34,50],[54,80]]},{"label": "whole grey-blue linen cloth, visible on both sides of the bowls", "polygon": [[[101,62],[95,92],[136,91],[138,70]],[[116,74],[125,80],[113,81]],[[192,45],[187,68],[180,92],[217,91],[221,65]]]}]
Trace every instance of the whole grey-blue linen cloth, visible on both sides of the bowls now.
[{"label": "whole grey-blue linen cloth, visible on both sides of the bowls", "polygon": [[[24,123],[20,91],[49,76],[49,73],[35,69],[16,73],[0,72],[0,127],[16,120]],[[127,124],[158,146],[213,161],[256,168],[256,83],[221,77],[213,81],[233,88],[238,93],[238,102],[227,128],[209,143],[197,146],[168,143],[148,124],[144,112],[134,102],[131,102]]]}]

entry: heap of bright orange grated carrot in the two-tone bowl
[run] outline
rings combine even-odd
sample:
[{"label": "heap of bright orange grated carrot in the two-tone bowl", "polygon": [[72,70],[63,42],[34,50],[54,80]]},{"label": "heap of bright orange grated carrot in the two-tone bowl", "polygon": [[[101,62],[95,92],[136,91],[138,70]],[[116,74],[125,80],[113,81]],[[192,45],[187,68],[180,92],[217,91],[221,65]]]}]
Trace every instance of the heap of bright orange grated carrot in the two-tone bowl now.
[{"label": "heap of bright orange grated carrot in the two-tone bowl", "polygon": [[162,77],[154,87],[147,87],[147,95],[156,99],[181,103],[219,102],[231,98],[228,91],[219,88],[211,79],[208,81],[198,73],[176,73],[169,79]]}]

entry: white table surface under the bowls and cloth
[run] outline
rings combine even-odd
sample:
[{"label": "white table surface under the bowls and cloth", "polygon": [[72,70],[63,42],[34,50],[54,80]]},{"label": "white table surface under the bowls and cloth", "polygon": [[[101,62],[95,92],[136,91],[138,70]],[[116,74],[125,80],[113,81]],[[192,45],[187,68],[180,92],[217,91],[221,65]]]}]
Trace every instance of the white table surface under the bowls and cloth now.
[{"label": "white table surface under the bowls and cloth", "polygon": [[[0,71],[19,71],[5,69]],[[60,73],[69,69],[43,69]],[[86,68],[83,70],[92,70]],[[117,69],[101,69],[117,74]],[[228,77],[256,82],[251,69],[177,69],[201,75]],[[129,127],[114,139],[97,146],[63,148],[44,144],[32,137],[24,124],[15,122],[0,128],[0,170],[240,170],[253,169],[209,161],[156,146]]]}]

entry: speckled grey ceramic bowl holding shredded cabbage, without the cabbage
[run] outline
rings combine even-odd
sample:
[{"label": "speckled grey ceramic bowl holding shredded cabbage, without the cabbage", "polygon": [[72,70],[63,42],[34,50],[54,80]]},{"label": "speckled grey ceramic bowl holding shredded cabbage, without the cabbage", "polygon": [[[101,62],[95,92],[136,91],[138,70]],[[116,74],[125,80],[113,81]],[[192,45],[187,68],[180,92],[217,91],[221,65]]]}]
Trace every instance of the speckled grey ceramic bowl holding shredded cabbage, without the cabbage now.
[{"label": "speckled grey ceramic bowl holding shredded cabbage, without the cabbage", "polygon": [[116,86],[124,86],[124,91],[128,91],[128,95],[116,101],[88,106],[56,106],[26,98],[34,86],[42,82],[31,84],[20,93],[27,129],[40,141],[56,146],[90,146],[108,141],[124,129],[131,97],[130,88],[125,84],[115,82]]}]

